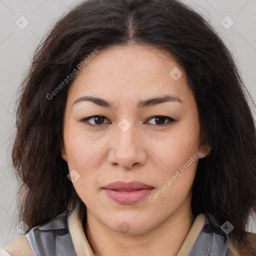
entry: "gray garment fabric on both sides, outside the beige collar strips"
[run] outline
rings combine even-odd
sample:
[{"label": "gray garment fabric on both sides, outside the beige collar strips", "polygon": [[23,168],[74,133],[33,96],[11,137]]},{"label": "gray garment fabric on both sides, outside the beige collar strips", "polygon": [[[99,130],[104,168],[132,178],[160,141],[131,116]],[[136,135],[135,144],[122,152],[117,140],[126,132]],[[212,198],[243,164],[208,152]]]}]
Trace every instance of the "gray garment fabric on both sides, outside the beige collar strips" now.
[{"label": "gray garment fabric on both sides, outside the beige collar strips", "polygon": [[[69,214],[33,227],[26,235],[35,256],[76,256],[68,228]],[[213,216],[211,216],[215,222]],[[205,217],[204,225],[188,256],[225,256],[228,235],[214,227]],[[87,256],[87,255],[84,255]]]}]

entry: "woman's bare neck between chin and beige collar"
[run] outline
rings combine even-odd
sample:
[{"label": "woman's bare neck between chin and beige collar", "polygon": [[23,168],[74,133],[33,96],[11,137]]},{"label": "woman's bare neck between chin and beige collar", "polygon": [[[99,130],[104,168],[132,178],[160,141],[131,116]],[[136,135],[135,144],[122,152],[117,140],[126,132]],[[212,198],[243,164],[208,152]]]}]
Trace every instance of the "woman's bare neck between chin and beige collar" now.
[{"label": "woman's bare neck between chin and beige collar", "polygon": [[98,221],[88,209],[86,215],[85,236],[99,256],[175,256],[193,222],[190,201],[184,202],[157,227],[139,234],[116,232]]}]

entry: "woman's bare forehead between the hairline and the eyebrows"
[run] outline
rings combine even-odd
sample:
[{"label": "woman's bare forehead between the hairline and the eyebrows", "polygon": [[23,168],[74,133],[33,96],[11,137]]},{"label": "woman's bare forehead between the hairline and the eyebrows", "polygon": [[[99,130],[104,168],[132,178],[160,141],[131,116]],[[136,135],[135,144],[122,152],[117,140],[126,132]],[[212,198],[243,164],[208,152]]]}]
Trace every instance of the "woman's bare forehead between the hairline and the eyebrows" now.
[{"label": "woman's bare forehead between the hairline and the eyebrows", "polygon": [[[178,79],[173,79],[172,70]],[[69,97],[88,93],[132,101],[166,93],[180,98],[189,90],[182,67],[169,52],[146,45],[114,45],[99,50],[74,77]]]}]

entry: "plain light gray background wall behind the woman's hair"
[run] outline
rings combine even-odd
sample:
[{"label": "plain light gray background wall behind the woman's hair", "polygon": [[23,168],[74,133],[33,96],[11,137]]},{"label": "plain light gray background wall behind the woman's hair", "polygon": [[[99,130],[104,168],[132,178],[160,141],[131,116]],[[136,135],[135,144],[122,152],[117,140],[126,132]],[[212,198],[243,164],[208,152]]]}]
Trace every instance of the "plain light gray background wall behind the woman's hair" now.
[{"label": "plain light gray background wall behind the woman's hair", "polygon": [[[15,229],[17,181],[10,160],[17,88],[42,36],[61,13],[77,2],[0,0],[0,248],[20,235]],[[183,2],[200,12],[218,31],[231,50],[246,87],[256,102],[256,37],[253,28],[256,23],[256,0]],[[24,29],[15,23],[22,15],[29,21]],[[248,230],[256,232],[255,221],[251,223]]]}]

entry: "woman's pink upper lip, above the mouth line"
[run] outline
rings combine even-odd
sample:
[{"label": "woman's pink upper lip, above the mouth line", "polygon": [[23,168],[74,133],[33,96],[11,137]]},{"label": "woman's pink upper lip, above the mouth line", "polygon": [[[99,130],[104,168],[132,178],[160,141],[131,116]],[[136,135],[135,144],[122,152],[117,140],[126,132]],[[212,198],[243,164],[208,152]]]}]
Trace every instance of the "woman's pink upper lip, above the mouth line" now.
[{"label": "woman's pink upper lip, above the mouth line", "polygon": [[133,180],[129,182],[124,181],[114,181],[109,183],[108,185],[104,186],[103,188],[106,189],[121,189],[121,190],[133,190],[133,189],[141,189],[141,188],[153,188],[150,185],[147,185],[145,183],[142,183],[138,180]]}]

